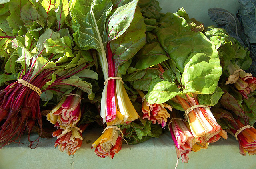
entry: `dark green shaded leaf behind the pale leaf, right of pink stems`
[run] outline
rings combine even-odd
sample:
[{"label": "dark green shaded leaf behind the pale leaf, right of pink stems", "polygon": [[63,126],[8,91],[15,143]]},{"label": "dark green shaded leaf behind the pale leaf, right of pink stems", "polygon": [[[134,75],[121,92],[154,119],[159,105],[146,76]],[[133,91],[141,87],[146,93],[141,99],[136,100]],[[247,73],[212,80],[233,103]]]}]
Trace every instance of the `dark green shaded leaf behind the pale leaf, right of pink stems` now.
[{"label": "dark green shaded leaf behind the pale leaf, right of pink stems", "polygon": [[[116,69],[131,59],[145,45],[145,31],[146,25],[142,14],[136,10],[129,28],[118,39],[110,41]],[[125,69],[127,70],[128,67]]]}]

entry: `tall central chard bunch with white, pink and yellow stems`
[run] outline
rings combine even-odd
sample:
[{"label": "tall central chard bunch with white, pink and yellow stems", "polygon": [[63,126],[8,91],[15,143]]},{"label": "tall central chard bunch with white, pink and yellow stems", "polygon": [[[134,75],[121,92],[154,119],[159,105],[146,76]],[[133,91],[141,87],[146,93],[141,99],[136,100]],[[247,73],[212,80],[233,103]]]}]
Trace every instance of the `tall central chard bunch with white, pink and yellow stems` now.
[{"label": "tall central chard bunch with white, pink and yellow stems", "polygon": [[[108,125],[138,118],[121,79],[130,59],[145,43],[146,28],[141,13],[136,10],[137,2],[78,0],[70,6],[76,44],[81,49],[97,50],[105,80],[101,116]],[[112,77],[117,78],[109,79]]]}]

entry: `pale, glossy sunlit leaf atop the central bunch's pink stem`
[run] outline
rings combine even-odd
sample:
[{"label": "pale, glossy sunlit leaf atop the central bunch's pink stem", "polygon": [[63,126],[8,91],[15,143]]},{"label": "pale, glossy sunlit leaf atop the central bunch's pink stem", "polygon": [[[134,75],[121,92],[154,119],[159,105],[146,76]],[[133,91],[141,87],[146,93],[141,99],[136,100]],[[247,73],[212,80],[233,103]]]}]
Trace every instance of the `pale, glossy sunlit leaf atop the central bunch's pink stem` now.
[{"label": "pale, glossy sunlit leaf atop the central bunch's pink stem", "polygon": [[116,8],[108,19],[108,41],[120,37],[130,26],[135,13],[138,0]]}]

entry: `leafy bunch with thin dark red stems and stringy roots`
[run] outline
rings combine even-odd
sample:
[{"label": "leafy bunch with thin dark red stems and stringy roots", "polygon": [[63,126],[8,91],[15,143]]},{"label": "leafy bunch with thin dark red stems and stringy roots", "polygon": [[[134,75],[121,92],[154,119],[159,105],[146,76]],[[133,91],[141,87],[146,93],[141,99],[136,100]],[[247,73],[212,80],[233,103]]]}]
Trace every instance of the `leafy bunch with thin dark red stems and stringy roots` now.
[{"label": "leafy bunch with thin dark red stems and stringy roots", "polygon": [[4,9],[10,10],[5,21],[11,29],[1,27],[1,31],[12,37],[2,39],[12,40],[2,48],[7,61],[0,76],[9,85],[0,91],[1,147],[18,139],[27,127],[30,132],[35,124],[42,132],[40,100],[46,105],[75,87],[93,99],[92,85],[84,80],[98,79],[88,69],[94,63],[90,52],[72,45],[67,0],[55,4],[12,0]]}]

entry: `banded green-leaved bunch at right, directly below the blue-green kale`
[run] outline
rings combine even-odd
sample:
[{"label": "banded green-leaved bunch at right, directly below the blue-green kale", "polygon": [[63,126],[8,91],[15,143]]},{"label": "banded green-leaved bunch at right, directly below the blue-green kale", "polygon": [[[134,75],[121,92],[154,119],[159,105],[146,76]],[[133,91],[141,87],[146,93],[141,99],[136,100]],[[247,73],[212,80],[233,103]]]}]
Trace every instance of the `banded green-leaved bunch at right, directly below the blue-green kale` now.
[{"label": "banded green-leaved bunch at right, directly below the blue-green kale", "polygon": [[205,35],[216,45],[220,53],[225,84],[234,85],[242,96],[248,99],[247,95],[256,88],[256,78],[244,71],[252,64],[250,52],[238,40],[231,37],[225,29],[210,26],[206,30]]}]

